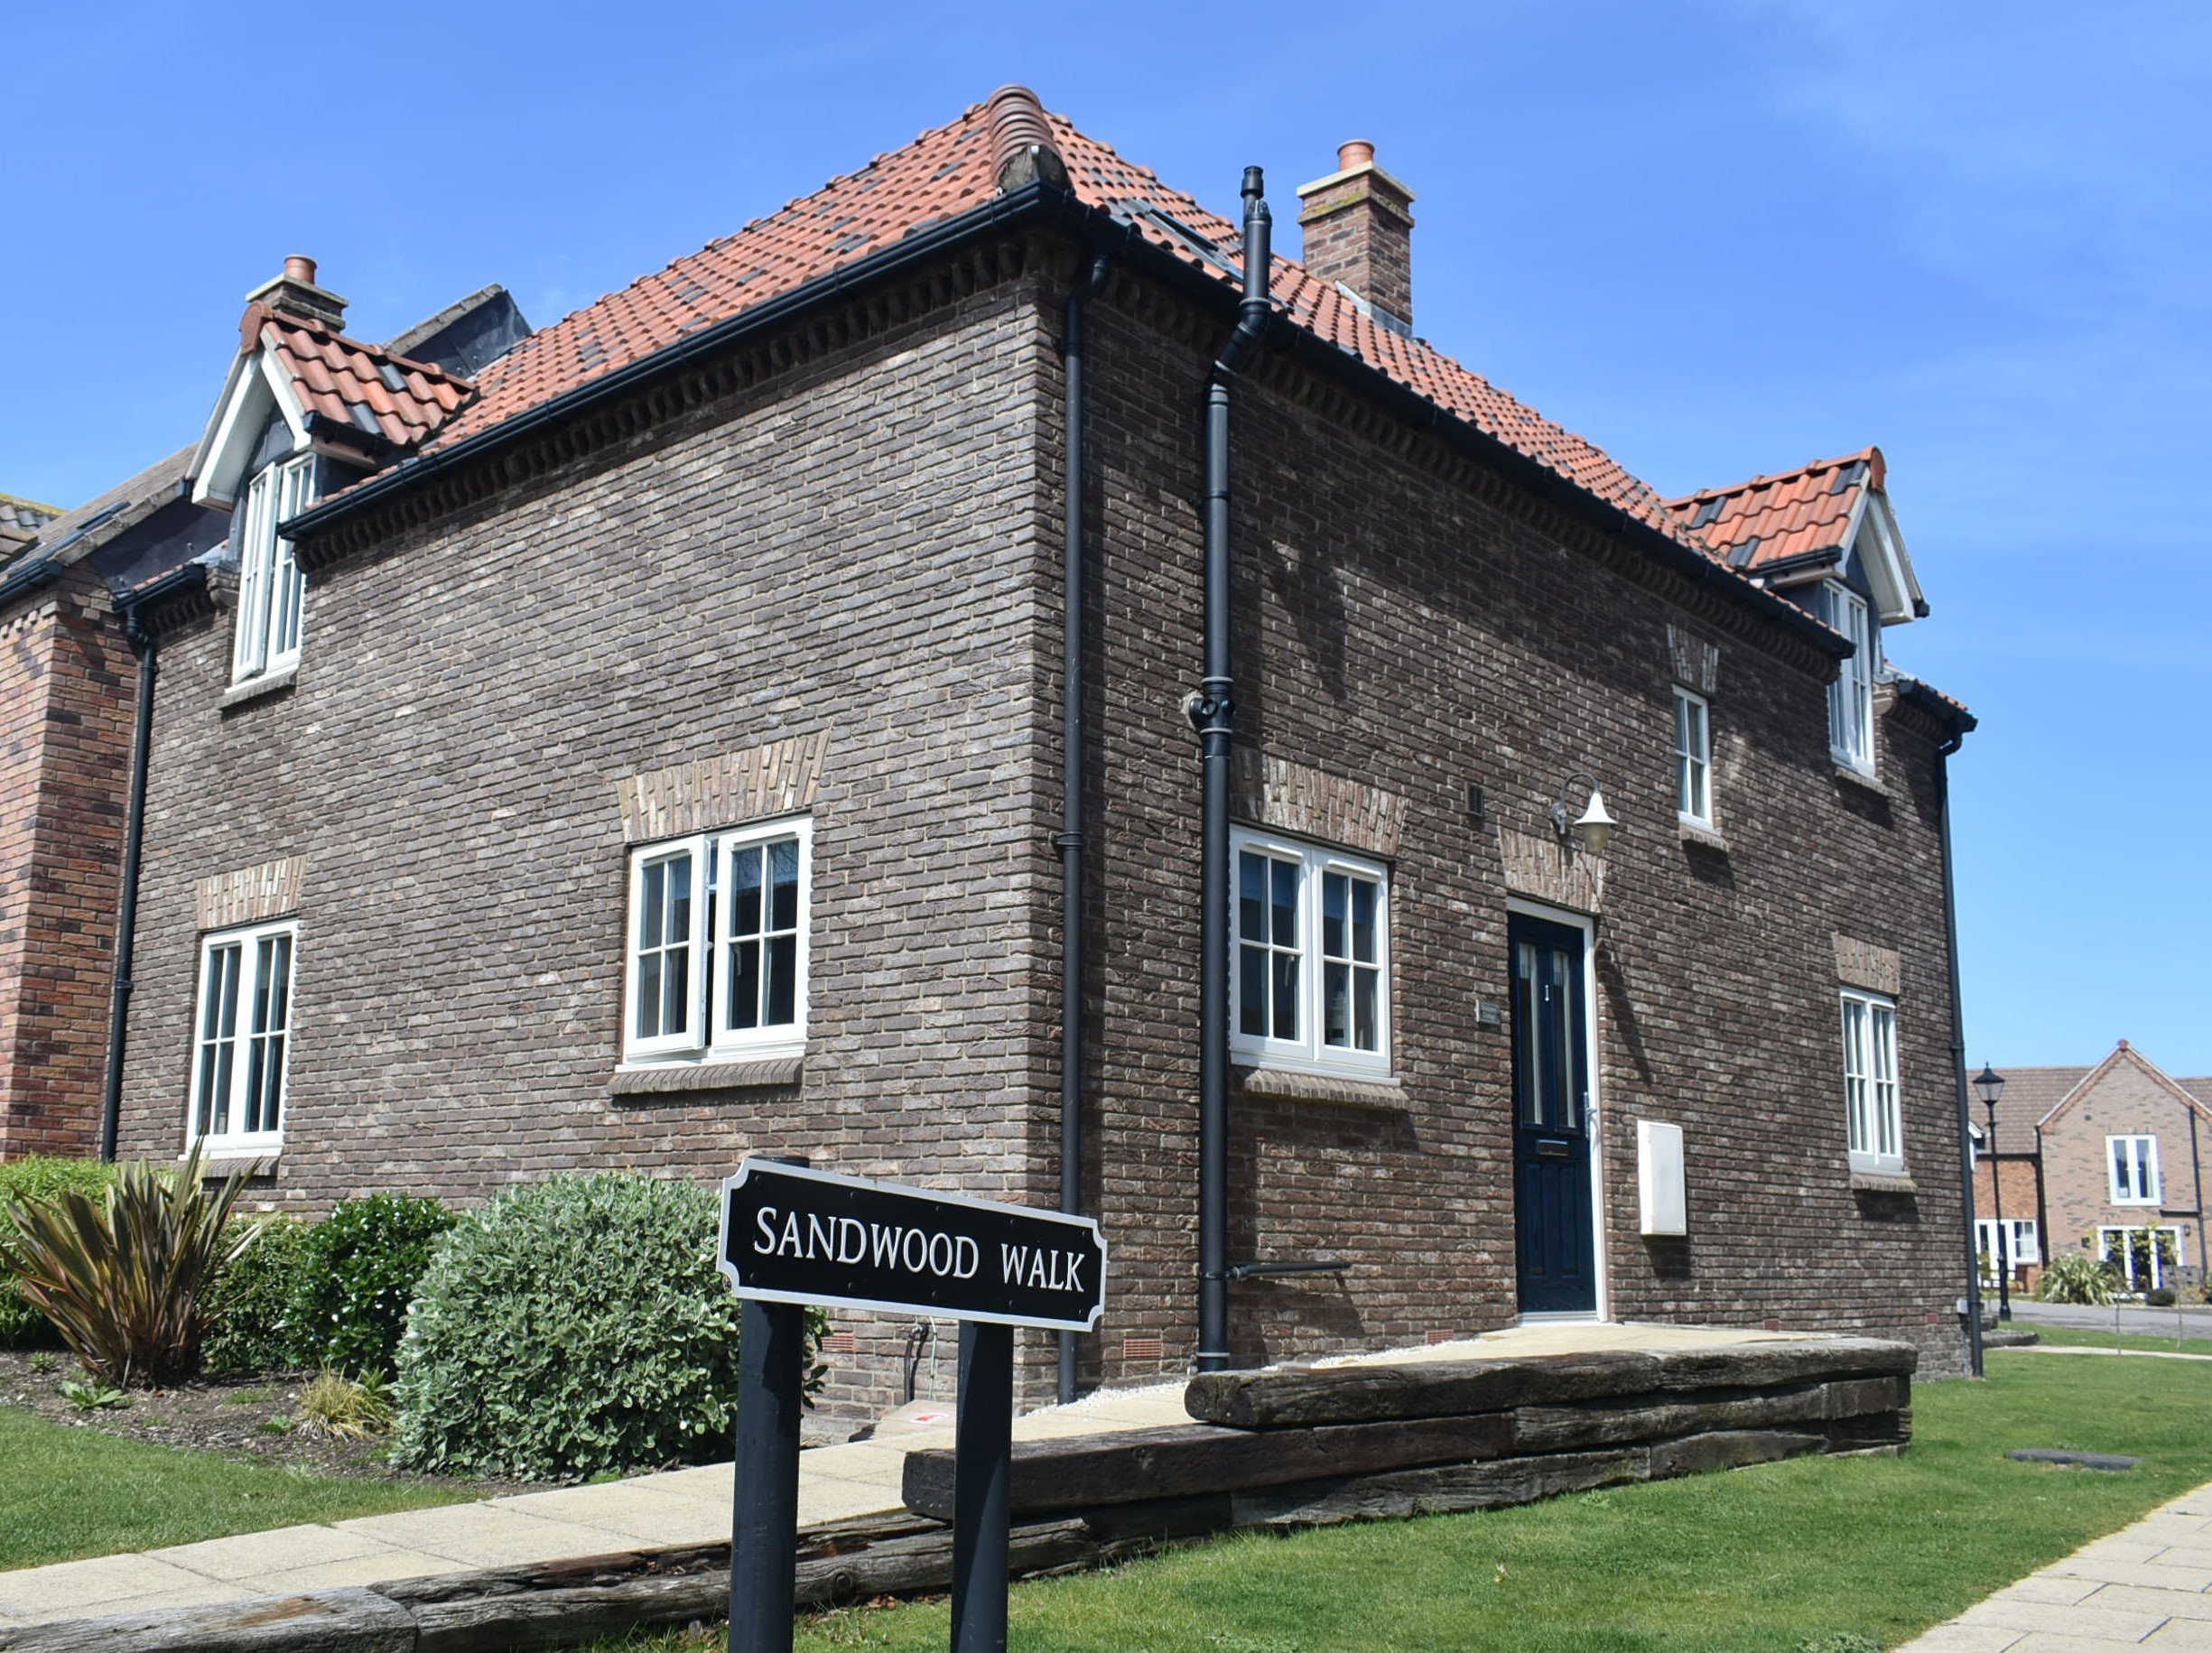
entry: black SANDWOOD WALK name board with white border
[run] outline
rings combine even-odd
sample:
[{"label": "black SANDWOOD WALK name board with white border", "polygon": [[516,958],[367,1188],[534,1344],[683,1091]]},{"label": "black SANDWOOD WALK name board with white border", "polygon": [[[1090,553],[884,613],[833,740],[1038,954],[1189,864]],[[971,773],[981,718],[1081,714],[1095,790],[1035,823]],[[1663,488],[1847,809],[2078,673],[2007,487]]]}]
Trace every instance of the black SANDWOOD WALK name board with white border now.
[{"label": "black SANDWOOD WALK name board with white border", "polygon": [[1088,1332],[1106,1310],[1095,1217],[752,1157],[721,1184],[721,1272],[763,1303]]}]

